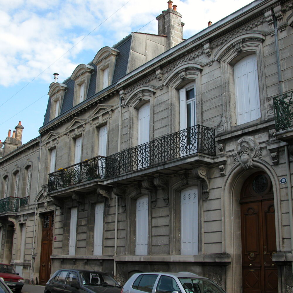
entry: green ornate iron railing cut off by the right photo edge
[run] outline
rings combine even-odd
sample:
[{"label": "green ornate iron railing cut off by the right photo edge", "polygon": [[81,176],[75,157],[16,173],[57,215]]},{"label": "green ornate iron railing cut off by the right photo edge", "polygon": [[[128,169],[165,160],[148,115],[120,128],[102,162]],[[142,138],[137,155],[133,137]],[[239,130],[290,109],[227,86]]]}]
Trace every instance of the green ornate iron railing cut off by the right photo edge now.
[{"label": "green ornate iron railing cut off by the right photo edge", "polygon": [[273,98],[276,130],[293,128],[293,92]]}]

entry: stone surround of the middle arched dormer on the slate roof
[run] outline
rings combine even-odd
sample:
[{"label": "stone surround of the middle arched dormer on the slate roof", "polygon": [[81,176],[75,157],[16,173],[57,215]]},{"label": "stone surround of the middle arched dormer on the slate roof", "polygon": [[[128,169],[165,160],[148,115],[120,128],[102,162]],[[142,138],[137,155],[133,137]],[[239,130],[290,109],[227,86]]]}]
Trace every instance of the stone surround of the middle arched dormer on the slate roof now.
[{"label": "stone surround of the middle arched dormer on the slate roof", "polygon": [[93,74],[94,68],[91,65],[79,64],[71,74],[71,79],[74,80],[74,99],[73,106],[79,104],[80,88],[84,84],[84,100],[88,94],[88,88],[90,84],[91,74]]}]

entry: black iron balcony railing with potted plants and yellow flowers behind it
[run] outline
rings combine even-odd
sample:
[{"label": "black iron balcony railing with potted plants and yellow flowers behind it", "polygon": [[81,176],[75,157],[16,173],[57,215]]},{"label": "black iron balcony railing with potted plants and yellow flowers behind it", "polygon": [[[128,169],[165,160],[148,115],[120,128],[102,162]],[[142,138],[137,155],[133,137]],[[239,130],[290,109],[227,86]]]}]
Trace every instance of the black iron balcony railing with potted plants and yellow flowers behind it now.
[{"label": "black iron balcony railing with potted plants and yellow flowers behind it", "polygon": [[104,179],[105,157],[97,156],[49,174],[48,191],[90,181]]}]

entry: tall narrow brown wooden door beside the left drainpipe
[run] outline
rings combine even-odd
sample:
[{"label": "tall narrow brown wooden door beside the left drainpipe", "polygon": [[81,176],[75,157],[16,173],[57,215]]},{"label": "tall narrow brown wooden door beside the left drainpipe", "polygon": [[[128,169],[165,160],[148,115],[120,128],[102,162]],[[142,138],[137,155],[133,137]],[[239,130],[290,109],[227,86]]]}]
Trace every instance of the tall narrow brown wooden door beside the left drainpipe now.
[{"label": "tall narrow brown wooden door beside the left drainpipe", "polygon": [[43,218],[39,285],[45,285],[51,273],[51,254],[53,242],[54,214],[45,214]]}]

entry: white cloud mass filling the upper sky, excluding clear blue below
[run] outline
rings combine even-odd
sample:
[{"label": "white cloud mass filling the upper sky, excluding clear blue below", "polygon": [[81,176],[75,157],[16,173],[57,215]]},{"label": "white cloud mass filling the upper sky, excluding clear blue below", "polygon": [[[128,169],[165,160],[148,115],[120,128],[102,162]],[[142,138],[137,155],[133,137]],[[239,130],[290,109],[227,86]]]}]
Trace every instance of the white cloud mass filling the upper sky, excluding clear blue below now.
[{"label": "white cloud mass filling the upper sky, excluding clear blue below", "polygon": [[[215,23],[251,1],[226,0],[224,5],[213,0],[173,2],[182,14],[187,38],[207,27],[207,21]],[[127,0],[11,0],[8,4],[1,0],[0,85],[30,81],[125,3]],[[90,62],[101,47],[114,45],[167,7],[166,0],[131,0],[39,78],[51,82],[55,70],[65,79],[78,63]],[[157,33],[156,19],[140,32]],[[84,50],[93,53],[80,60]]]}]

